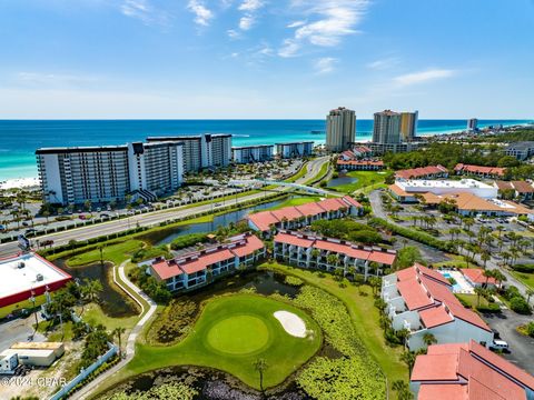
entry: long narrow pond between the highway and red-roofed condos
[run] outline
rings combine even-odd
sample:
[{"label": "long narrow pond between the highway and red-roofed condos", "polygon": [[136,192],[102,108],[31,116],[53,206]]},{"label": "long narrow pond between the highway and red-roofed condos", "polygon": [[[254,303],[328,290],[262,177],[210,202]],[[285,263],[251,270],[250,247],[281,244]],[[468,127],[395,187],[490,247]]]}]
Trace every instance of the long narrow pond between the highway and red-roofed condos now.
[{"label": "long narrow pond between the highway and red-roofed condos", "polygon": [[[290,199],[291,197],[289,197]],[[170,243],[174,239],[189,233],[208,233],[217,230],[219,226],[227,227],[230,222],[237,223],[247,217],[251,211],[260,211],[266,210],[276,206],[279,206],[287,201],[288,198],[284,198],[280,200],[269,201],[258,206],[247,207],[236,211],[225,212],[224,214],[217,216],[210,222],[201,222],[201,223],[194,223],[181,226],[172,230],[172,232],[166,236],[162,239],[156,240],[152,244],[167,244]]]}]

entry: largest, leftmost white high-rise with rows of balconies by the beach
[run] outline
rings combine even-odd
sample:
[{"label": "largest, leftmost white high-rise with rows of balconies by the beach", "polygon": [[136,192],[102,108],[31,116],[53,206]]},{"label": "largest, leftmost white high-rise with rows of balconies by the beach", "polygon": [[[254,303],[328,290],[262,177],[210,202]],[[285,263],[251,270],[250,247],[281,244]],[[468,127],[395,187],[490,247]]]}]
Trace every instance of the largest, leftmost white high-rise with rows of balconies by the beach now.
[{"label": "largest, leftmost white high-rise with rows of balconies by the beach", "polygon": [[152,201],[182,182],[179,142],[42,148],[36,156],[43,200],[55,204],[121,201],[129,193]]}]

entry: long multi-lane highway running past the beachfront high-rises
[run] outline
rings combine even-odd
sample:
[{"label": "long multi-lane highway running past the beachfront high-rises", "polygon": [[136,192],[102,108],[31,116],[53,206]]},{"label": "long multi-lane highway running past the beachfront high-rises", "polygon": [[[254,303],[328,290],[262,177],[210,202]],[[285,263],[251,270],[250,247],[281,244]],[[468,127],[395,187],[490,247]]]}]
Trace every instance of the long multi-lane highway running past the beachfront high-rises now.
[{"label": "long multi-lane highway running past the beachfront high-rises", "polygon": [[[328,162],[328,157],[320,157],[309,161],[307,172],[303,177],[297,179],[296,183],[303,184],[310,178],[316,177],[319,173],[320,168],[325,162]],[[275,189],[275,191],[279,191],[279,192],[285,192],[288,190],[290,190],[290,188]],[[235,203],[235,202],[243,203],[246,201],[260,199],[263,197],[265,197],[265,193],[263,192],[254,193],[254,194],[238,198],[237,201],[227,200],[226,204],[228,204],[230,201],[231,203]],[[215,203],[221,203],[221,204],[215,206]],[[100,237],[100,236],[125,231],[129,228],[136,227],[137,224],[139,224],[140,227],[149,227],[149,226],[157,224],[159,222],[167,221],[169,219],[182,218],[194,213],[200,213],[206,211],[216,211],[217,209],[222,208],[224,204],[225,203],[222,203],[221,200],[216,199],[208,204],[201,204],[201,206],[196,206],[190,208],[178,207],[175,209],[169,209],[164,211],[154,211],[154,212],[148,212],[144,214],[131,216],[126,219],[101,222],[101,223],[96,223],[93,226],[86,226],[86,227],[71,229],[68,231],[50,233],[50,234],[39,237],[38,239],[41,242],[44,240],[53,240],[55,246],[61,246],[61,244],[67,244],[70,240],[81,241],[81,240],[88,240],[88,239]],[[0,244],[0,257],[14,254],[19,251],[20,249],[17,242]]]}]

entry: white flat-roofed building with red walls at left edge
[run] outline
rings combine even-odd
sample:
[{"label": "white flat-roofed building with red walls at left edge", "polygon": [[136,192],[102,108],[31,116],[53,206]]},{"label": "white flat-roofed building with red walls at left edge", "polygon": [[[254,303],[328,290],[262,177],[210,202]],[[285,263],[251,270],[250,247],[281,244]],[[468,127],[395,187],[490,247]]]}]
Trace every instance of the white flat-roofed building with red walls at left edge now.
[{"label": "white flat-roofed building with red walls at left edge", "polygon": [[0,308],[62,288],[71,277],[37,253],[0,259]]}]

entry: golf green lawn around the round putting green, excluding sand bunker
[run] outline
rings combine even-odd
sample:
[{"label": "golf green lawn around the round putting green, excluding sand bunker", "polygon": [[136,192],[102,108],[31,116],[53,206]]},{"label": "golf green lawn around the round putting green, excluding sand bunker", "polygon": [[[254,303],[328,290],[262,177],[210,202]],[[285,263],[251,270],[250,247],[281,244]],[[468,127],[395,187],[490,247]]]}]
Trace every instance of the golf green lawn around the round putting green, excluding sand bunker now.
[{"label": "golf green lawn around the round putting green, excluding sand bunker", "polygon": [[[276,311],[300,317],[312,332],[306,338],[288,334],[274,317]],[[231,294],[209,300],[191,333],[170,347],[137,344],[122,378],[170,366],[210,367],[229,372],[259,389],[254,362],[265,359],[264,387],[281,383],[320,348],[317,323],[287,303],[256,294]]]}]

